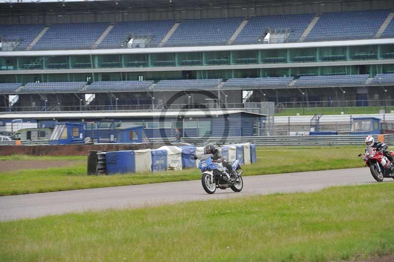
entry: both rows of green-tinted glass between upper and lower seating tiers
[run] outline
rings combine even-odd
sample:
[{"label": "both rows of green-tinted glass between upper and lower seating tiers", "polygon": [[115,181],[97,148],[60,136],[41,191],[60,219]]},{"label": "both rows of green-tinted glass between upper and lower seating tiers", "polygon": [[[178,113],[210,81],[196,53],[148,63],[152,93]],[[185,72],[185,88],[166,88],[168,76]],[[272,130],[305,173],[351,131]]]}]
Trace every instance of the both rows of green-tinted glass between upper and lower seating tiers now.
[{"label": "both rows of green-tinted glass between upper and lower seating tiers", "polygon": [[[336,46],[270,50],[242,50],[189,53],[115,54],[0,57],[0,70],[46,70],[31,74],[0,74],[1,83],[60,82],[60,81],[124,81],[164,79],[209,79],[315,76],[394,73],[394,64],[356,66],[302,66],[302,63],[394,59],[394,44],[365,46]],[[291,67],[285,64],[300,63]],[[277,68],[254,68],[253,65],[283,64]],[[247,69],[201,70],[195,66],[242,65]],[[182,66],[181,70],[165,70],[168,66]],[[185,69],[185,66],[188,69]],[[132,68],[141,72],[86,72],[54,73],[56,69]],[[150,71],[149,67],[163,67]]]}]

